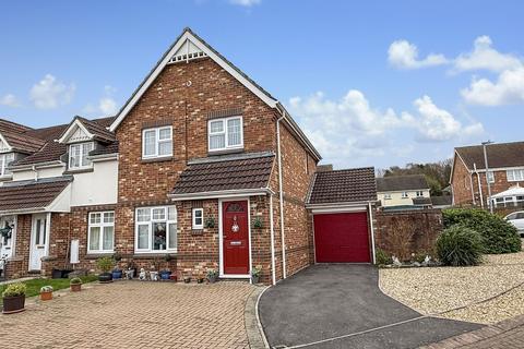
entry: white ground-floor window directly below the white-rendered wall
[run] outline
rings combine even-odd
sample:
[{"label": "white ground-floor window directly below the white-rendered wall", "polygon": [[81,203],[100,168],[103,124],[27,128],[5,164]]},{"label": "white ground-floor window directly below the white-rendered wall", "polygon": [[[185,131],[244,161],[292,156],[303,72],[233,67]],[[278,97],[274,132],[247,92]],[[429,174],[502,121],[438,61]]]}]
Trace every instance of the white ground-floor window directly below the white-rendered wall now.
[{"label": "white ground-floor window directly below the white-rendered wall", "polygon": [[115,251],[115,212],[90,213],[87,253],[112,253]]}]

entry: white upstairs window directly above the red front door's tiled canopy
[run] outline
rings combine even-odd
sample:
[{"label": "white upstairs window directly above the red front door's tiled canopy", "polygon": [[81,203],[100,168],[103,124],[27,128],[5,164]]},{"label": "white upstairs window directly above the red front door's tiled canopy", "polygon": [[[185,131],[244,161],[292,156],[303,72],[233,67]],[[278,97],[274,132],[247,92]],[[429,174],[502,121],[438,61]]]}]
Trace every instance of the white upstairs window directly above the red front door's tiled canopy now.
[{"label": "white upstairs window directly above the red front door's tiled canopy", "polygon": [[242,117],[213,119],[207,122],[210,152],[243,147]]}]

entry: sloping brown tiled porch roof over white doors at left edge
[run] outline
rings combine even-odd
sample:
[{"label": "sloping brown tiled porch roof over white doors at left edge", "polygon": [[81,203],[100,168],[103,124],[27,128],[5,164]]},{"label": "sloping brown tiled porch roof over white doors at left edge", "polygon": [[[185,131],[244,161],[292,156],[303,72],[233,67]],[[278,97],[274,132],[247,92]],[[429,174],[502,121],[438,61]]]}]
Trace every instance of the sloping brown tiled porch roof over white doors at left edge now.
[{"label": "sloping brown tiled porch roof over white doors at left edge", "polygon": [[71,183],[71,177],[57,177],[0,186],[0,212],[38,209],[50,205]]}]

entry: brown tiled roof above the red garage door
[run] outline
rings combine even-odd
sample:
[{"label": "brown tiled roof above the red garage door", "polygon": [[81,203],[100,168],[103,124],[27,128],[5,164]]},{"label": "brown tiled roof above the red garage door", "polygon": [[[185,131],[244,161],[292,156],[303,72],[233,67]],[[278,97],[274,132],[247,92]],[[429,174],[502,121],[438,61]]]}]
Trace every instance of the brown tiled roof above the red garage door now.
[{"label": "brown tiled roof above the red garage door", "polygon": [[374,168],[317,172],[308,204],[377,201]]}]

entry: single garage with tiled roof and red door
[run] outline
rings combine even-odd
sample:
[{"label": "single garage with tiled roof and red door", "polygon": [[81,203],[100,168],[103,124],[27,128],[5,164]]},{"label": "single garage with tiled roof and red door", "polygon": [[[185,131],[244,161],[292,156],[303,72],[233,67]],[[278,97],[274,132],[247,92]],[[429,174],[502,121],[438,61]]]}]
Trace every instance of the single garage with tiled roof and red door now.
[{"label": "single garage with tiled roof and red door", "polygon": [[322,169],[314,174],[306,207],[311,213],[317,263],[374,263],[372,167]]}]

